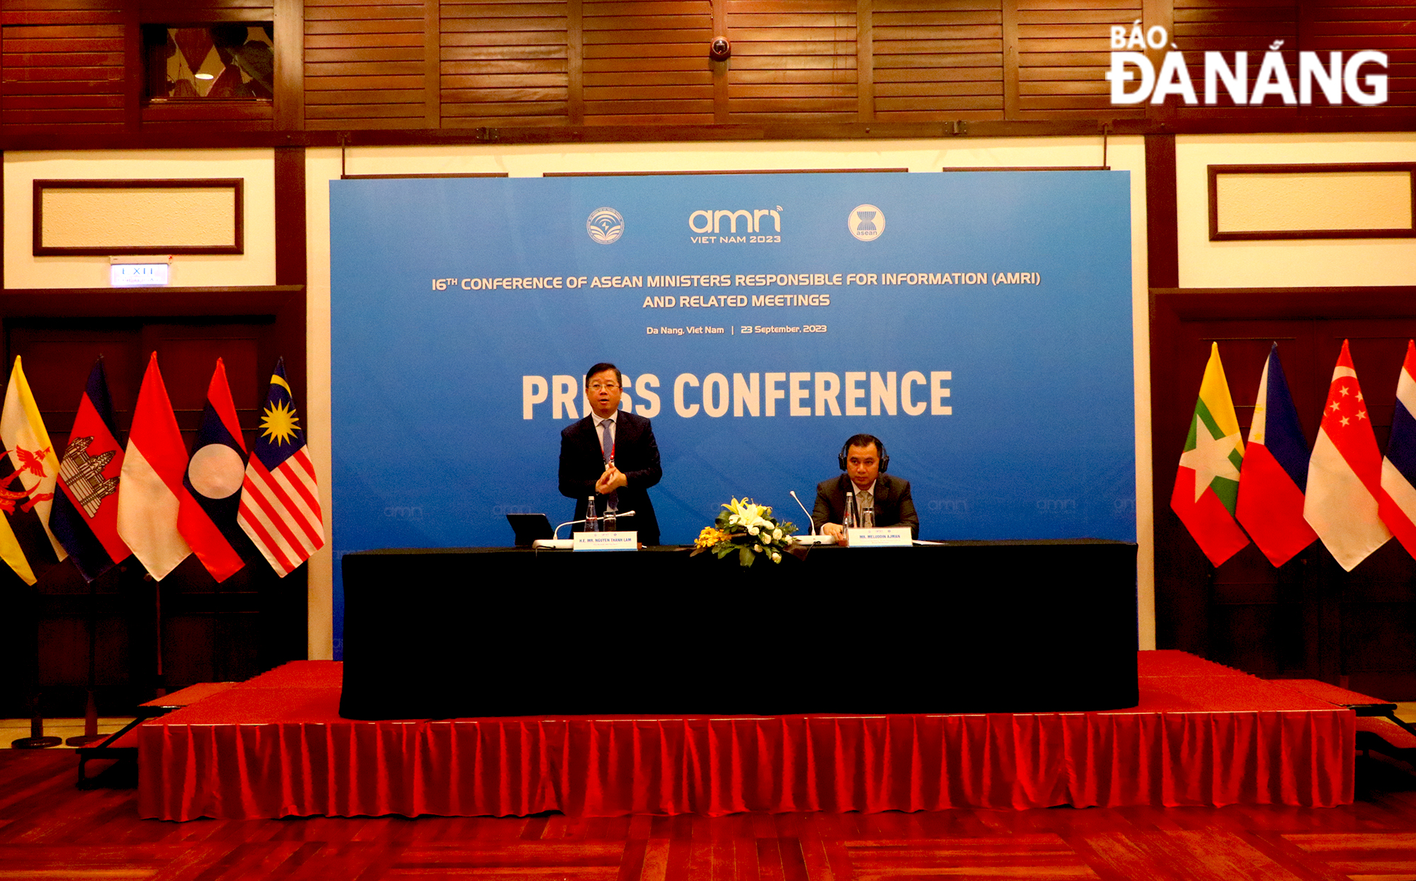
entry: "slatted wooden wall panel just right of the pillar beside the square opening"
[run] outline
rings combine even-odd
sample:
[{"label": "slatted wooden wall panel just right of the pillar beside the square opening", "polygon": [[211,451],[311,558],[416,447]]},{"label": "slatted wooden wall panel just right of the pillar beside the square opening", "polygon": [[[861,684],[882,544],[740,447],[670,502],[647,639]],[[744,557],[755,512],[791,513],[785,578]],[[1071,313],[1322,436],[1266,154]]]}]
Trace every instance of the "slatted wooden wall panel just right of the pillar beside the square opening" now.
[{"label": "slatted wooden wall panel just right of the pillar beside the square opening", "polygon": [[423,3],[304,6],[304,127],[423,127]]}]

